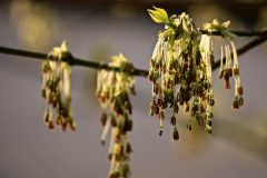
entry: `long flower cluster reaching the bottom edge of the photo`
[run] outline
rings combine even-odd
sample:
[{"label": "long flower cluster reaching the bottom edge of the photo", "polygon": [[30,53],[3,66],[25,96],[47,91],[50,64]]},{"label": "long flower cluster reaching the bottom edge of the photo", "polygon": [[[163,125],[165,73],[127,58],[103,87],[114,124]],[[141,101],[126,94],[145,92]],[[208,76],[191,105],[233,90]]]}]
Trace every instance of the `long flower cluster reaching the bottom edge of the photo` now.
[{"label": "long flower cluster reaching the bottom edge of the photo", "polygon": [[[131,71],[132,65],[123,55],[115,56],[109,63],[122,71]],[[135,95],[135,80],[129,72],[100,70],[97,79],[96,96],[102,109],[101,123],[103,131],[101,141],[111,127],[109,144],[109,178],[127,178],[130,174],[129,158],[131,146],[127,132],[132,129],[131,103],[129,96]]]}]

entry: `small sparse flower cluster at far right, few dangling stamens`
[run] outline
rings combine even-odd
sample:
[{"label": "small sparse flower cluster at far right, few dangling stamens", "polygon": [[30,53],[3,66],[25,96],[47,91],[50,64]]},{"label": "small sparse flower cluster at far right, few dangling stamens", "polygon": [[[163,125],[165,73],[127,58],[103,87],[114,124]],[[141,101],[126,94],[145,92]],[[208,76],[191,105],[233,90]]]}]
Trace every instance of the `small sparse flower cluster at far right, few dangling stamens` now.
[{"label": "small sparse flower cluster at far right, few dangling stamens", "polygon": [[224,37],[224,42],[220,47],[220,69],[219,78],[225,80],[225,89],[230,89],[230,78],[235,79],[235,99],[233,108],[238,109],[244,106],[243,86],[239,76],[239,66],[236,46],[234,43],[235,34],[227,30],[230,21],[219,23],[217,19],[212,23],[205,23],[204,29],[208,31],[219,31]]}]

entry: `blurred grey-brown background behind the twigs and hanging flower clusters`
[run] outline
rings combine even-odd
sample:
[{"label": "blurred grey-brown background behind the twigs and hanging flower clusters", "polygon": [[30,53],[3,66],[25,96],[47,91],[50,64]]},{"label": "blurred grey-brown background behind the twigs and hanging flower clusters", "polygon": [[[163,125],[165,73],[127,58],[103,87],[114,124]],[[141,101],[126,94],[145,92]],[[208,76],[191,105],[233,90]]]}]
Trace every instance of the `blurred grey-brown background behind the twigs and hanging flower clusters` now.
[{"label": "blurred grey-brown background behind the twigs and hanging flower clusters", "polygon": [[[266,0],[1,0],[0,46],[40,52],[67,40],[75,57],[108,61],[123,52],[136,67],[148,69],[164,27],[146,9],[157,6],[169,14],[189,13],[196,24],[214,18],[231,20],[230,29],[267,27]],[[241,47],[251,38],[236,39]],[[217,52],[218,53],[218,52]],[[179,115],[180,140],[174,141],[169,119],[162,137],[148,116],[151,85],[136,78],[132,178],[265,178],[267,175],[267,42],[241,56],[245,107],[231,109],[234,92],[224,90],[215,71],[214,135]],[[218,59],[218,56],[217,58]],[[72,68],[72,111],[76,132],[43,125],[41,62],[0,53],[0,177],[103,178],[109,170],[108,146],[100,145],[100,108],[95,97],[96,70]]]}]

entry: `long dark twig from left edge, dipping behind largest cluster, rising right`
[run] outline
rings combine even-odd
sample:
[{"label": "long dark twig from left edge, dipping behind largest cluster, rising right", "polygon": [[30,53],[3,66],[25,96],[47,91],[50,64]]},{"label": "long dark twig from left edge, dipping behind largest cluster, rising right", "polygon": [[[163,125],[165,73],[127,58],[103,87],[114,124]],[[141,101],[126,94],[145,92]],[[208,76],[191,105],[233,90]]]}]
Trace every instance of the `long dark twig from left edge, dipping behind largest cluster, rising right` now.
[{"label": "long dark twig from left edge, dipping behind largest cluster, rising right", "polygon": [[[257,47],[258,44],[263,43],[266,40],[267,40],[267,33],[265,32],[265,36],[260,36],[260,37],[251,40],[249,43],[245,44],[244,47],[239,48],[237,50],[237,53],[240,56],[240,55],[247,52],[248,50]],[[14,49],[14,48],[7,48],[7,47],[0,47],[0,53],[29,57],[29,58],[34,58],[34,59],[39,59],[39,60],[46,60],[48,57],[47,53],[32,52],[32,51],[20,50],[20,49]],[[121,71],[120,68],[111,67],[108,63],[90,61],[90,60],[79,59],[79,58],[75,58],[75,57],[72,57],[71,65],[87,67],[87,68],[95,68],[95,69]],[[219,65],[220,65],[220,62],[218,60],[217,62],[215,62],[212,70],[216,70],[219,67]],[[134,70],[130,72],[130,75],[139,76],[139,77],[147,77],[148,71],[144,70],[144,69],[134,68]]]}]

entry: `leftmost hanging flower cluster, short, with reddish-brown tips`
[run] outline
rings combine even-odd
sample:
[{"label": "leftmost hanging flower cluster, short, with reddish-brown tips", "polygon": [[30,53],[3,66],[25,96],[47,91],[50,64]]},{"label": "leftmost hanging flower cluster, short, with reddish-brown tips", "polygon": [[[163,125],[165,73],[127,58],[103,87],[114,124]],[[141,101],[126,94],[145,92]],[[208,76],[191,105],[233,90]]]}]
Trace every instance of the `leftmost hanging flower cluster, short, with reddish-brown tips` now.
[{"label": "leftmost hanging flower cluster, short, with reddish-brown tips", "polygon": [[[63,41],[61,47],[56,47],[42,63],[42,97],[47,101],[43,120],[49,129],[60,126],[63,131],[68,127],[76,130],[76,122],[70,108],[70,72],[69,62],[62,60],[71,59],[68,47]],[[56,115],[56,117],[53,117]]]}]

